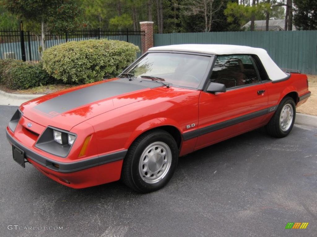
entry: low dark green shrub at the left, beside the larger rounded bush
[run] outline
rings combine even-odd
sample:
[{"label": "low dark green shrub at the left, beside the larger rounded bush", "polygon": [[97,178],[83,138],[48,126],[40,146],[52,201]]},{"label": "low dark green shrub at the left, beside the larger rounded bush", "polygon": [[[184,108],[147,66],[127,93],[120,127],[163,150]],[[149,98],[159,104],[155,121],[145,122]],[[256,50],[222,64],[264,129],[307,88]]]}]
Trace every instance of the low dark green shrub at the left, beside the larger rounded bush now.
[{"label": "low dark green shrub at the left, beside the larger rounded bush", "polygon": [[3,70],[2,84],[13,90],[23,90],[54,82],[55,79],[43,69],[42,62],[31,63],[13,60]]}]

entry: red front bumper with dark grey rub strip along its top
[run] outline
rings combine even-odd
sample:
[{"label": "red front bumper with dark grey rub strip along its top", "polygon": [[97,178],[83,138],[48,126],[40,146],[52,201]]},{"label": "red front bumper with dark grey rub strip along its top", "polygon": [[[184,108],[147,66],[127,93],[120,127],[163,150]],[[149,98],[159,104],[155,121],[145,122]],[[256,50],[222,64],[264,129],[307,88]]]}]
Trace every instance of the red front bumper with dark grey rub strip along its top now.
[{"label": "red front bumper with dark grey rub strip along its top", "polygon": [[69,187],[85,188],[120,179],[127,150],[74,162],[60,162],[40,155],[19,143],[6,131],[9,142],[24,151],[25,158],[49,178]]}]

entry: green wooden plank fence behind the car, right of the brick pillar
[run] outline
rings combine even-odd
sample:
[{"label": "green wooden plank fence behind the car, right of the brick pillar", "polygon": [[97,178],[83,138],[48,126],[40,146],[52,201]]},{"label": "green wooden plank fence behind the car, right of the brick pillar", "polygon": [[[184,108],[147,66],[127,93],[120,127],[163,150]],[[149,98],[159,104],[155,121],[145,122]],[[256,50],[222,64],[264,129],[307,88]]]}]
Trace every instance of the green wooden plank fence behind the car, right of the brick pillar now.
[{"label": "green wooden plank fence behind the car, right of the brick pillar", "polygon": [[265,49],[281,68],[317,74],[317,30],[154,34],[154,46],[231,44]]}]

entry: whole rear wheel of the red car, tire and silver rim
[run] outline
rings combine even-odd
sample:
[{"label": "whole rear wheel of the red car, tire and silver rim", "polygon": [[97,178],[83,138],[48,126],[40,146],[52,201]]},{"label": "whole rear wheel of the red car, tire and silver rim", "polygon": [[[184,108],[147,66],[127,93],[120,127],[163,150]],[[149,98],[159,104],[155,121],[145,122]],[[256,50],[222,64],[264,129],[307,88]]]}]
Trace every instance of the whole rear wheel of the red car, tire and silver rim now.
[{"label": "whole rear wheel of the red car, tire and silver rim", "polygon": [[277,107],[273,117],[265,125],[266,131],[273,137],[286,137],[293,128],[296,105],[292,98],[285,97]]}]

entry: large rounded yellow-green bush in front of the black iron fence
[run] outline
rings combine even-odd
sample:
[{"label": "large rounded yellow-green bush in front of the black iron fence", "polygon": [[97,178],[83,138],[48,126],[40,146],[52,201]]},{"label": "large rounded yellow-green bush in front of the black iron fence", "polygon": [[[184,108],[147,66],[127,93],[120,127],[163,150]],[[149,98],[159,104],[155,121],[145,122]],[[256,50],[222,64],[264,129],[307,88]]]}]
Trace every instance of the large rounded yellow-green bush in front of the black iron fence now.
[{"label": "large rounded yellow-green bush in front of the black iron fence", "polygon": [[117,76],[139,48],[118,40],[71,41],[43,52],[43,68],[64,83],[90,83]]}]

